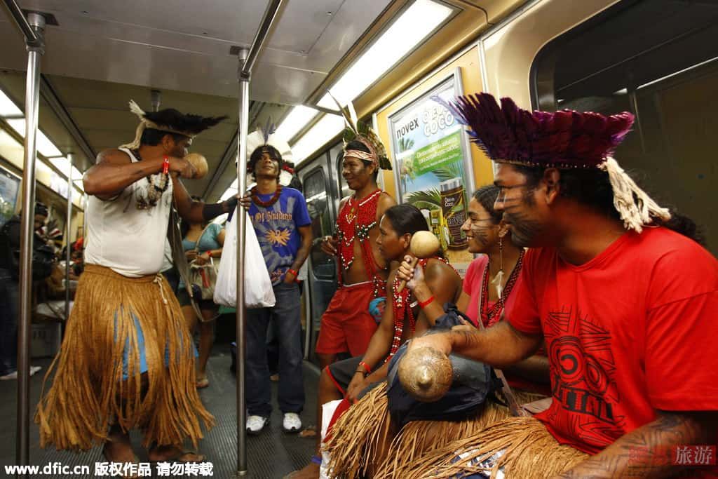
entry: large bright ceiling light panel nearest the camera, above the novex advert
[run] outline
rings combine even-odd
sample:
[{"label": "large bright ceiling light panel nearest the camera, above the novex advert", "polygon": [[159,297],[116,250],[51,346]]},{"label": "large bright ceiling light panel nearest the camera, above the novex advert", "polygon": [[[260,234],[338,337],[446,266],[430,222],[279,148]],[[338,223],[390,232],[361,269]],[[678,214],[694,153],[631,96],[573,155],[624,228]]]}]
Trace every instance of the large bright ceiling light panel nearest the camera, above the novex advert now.
[{"label": "large bright ceiling light panel nearest the camera, above the novex advert", "polygon": [[[332,95],[342,106],[353,101],[439,27],[452,11],[436,1],[416,0],[332,85]],[[323,108],[337,109],[328,94],[317,104]]]}]

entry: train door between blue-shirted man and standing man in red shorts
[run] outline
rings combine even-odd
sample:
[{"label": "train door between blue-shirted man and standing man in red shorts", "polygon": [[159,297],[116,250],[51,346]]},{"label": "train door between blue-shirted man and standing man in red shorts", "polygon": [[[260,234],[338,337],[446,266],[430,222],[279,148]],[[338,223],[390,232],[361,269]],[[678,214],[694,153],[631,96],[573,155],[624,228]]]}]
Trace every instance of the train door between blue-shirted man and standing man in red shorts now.
[{"label": "train door between blue-shirted man and standing man in red shorts", "polygon": [[305,358],[314,360],[314,347],[319,336],[322,314],[327,309],[337,289],[336,261],[322,251],[321,243],[324,236],[334,232],[336,208],[333,198],[335,187],[333,174],[330,171],[329,153],[314,159],[307,167],[302,168],[299,177],[304,185],[304,197],[307,198],[309,217],[312,218],[312,234],[314,243],[309,254],[309,311],[305,336]]}]

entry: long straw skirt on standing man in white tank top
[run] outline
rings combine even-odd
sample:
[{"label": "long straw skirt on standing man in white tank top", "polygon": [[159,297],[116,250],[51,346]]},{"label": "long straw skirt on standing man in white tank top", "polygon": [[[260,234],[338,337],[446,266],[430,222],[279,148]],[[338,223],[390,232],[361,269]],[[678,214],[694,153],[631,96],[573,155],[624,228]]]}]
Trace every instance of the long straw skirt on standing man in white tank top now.
[{"label": "long straw skirt on standing man in white tank top", "polygon": [[[135,321],[144,335],[146,379]],[[160,274],[127,278],[87,265],[45,383],[53,372],[35,414],[42,447],[88,450],[107,440],[113,423],[125,431],[139,427],[144,447],[187,438],[197,447],[200,422],[214,424],[197,395],[194,347],[180,304]]]}]

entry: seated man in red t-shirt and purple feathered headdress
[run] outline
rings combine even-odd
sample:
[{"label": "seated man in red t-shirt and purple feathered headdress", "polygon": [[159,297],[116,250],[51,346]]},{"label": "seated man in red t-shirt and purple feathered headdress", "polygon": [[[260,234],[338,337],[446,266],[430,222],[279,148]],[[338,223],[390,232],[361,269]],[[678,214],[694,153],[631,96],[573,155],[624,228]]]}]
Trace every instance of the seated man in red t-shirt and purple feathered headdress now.
[{"label": "seated man in red t-shirt and purple feathered headdress", "polygon": [[716,444],[718,261],[694,223],[611,157],[633,115],[531,113],[485,93],[460,98],[454,114],[498,162],[495,208],[533,249],[508,321],[410,349],[503,368],[545,341],[553,401],[416,460],[406,477],[484,477],[497,463],[508,478],[716,477],[696,458]]}]

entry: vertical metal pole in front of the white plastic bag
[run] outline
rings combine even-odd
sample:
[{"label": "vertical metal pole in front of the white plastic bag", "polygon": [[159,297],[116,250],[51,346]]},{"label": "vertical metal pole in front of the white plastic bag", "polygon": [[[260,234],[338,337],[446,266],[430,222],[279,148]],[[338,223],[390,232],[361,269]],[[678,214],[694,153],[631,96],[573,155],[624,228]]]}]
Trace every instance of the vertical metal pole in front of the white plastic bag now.
[{"label": "vertical metal pole in front of the white plastic bag", "polygon": [[[239,133],[237,136],[237,192],[244,194],[247,181],[247,134],[249,129],[249,75],[242,69],[249,50],[239,52]],[[247,215],[241,206],[237,210],[237,475],[247,473],[247,431],[245,406],[245,302],[244,302],[244,238]]]}]

